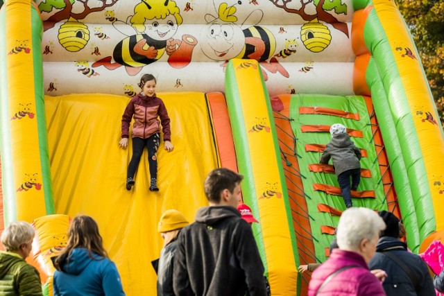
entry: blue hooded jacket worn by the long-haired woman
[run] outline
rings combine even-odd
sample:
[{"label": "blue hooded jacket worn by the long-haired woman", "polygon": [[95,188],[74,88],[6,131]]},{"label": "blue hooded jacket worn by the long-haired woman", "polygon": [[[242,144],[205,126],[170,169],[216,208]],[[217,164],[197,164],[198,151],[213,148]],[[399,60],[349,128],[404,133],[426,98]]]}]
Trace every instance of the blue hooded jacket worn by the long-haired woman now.
[{"label": "blue hooded jacket worn by the long-haired woman", "polygon": [[72,250],[62,262],[62,272],[54,273],[54,295],[125,295],[116,265],[110,259],[92,253],[85,248]]}]

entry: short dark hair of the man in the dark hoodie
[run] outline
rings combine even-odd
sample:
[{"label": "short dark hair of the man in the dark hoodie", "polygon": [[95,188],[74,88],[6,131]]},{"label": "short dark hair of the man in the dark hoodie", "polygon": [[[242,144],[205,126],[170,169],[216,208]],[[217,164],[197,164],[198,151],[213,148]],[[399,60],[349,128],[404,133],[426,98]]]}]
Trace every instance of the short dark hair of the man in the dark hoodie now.
[{"label": "short dark hair of the man in the dark hoodie", "polygon": [[236,187],[242,179],[244,179],[243,175],[234,173],[228,168],[216,168],[207,175],[203,184],[207,200],[219,204],[221,202],[222,191],[228,189],[230,193],[233,193],[234,187]]}]

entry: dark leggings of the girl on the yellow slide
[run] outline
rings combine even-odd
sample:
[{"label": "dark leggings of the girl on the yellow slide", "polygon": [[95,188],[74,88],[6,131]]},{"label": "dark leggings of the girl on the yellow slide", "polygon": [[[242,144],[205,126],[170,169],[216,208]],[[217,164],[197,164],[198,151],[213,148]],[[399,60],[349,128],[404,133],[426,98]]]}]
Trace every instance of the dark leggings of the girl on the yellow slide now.
[{"label": "dark leggings of the girl on the yellow slide", "polygon": [[137,167],[139,166],[140,158],[144,152],[144,148],[148,149],[148,164],[150,165],[151,178],[157,179],[157,148],[159,148],[160,134],[156,132],[147,139],[138,137],[133,138],[133,157],[131,157],[128,165],[127,177],[134,178]]}]

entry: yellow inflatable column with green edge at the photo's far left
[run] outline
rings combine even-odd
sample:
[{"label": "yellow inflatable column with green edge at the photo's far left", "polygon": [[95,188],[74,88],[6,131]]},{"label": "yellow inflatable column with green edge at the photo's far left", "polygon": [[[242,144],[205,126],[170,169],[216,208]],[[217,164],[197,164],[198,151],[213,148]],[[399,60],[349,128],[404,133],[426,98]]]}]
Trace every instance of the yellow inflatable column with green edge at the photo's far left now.
[{"label": "yellow inflatable column with green edge at the photo's far left", "polygon": [[31,0],[2,7],[1,160],[6,223],[53,214],[42,73],[42,19]]}]

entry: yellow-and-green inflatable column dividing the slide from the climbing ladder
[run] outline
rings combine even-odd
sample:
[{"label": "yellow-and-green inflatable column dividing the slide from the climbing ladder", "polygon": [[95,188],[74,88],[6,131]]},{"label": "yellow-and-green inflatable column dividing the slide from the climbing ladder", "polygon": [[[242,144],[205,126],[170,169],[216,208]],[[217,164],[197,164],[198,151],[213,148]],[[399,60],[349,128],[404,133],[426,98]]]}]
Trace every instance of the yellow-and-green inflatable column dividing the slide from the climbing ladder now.
[{"label": "yellow-and-green inflatable column dividing the slide from the climbing ladder", "polygon": [[298,248],[289,207],[273,112],[261,68],[253,60],[231,60],[225,95],[233,130],[242,195],[259,218],[254,226],[271,293],[296,295]]}]

